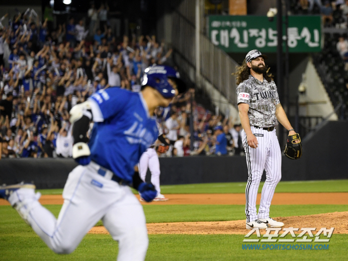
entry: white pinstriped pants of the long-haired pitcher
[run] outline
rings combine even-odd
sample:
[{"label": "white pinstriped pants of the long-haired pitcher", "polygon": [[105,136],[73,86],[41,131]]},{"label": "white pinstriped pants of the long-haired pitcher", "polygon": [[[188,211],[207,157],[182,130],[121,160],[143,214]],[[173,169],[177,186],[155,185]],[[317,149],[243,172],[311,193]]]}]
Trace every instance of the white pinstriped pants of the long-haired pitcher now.
[{"label": "white pinstriped pants of the long-haired pitcher", "polygon": [[[259,142],[256,149],[248,145],[247,135],[244,130],[242,131],[249,175],[245,191],[247,222],[254,221],[257,218],[269,217],[269,207],[275,187],[281,179],[281,151],[275,129],[266,131],[251,127],[251,130]],[[266,172],[266,181],[262,188],[259,214],[257,214],[256,198],[263,170]]]}]

